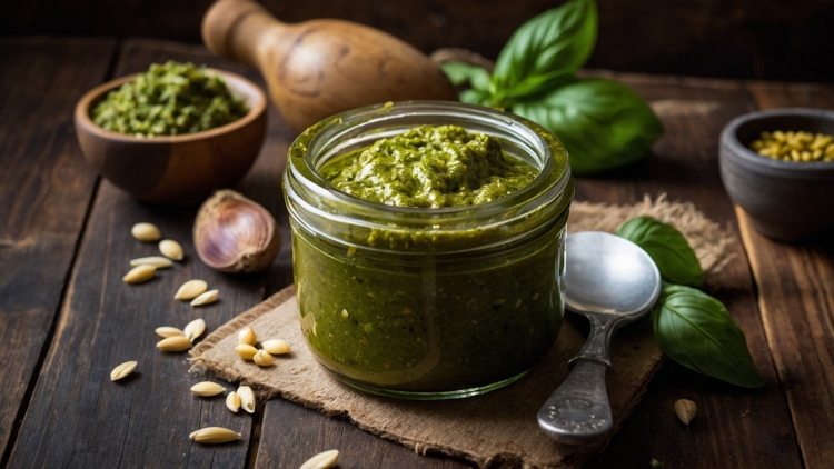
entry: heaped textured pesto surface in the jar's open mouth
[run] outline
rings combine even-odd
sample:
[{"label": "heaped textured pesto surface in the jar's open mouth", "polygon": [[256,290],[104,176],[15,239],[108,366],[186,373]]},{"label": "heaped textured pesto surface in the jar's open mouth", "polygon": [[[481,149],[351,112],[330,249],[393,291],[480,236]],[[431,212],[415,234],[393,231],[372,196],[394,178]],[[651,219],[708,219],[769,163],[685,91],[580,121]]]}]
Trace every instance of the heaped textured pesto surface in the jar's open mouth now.
[{"label": "heaped textured pesto surface in the jar's open mouth", "polygon": [[530,183],[538,170],[508,157],[500,141],[457,126],[423,126],[325,163],[345,193],[397,207],[486,203]]}]

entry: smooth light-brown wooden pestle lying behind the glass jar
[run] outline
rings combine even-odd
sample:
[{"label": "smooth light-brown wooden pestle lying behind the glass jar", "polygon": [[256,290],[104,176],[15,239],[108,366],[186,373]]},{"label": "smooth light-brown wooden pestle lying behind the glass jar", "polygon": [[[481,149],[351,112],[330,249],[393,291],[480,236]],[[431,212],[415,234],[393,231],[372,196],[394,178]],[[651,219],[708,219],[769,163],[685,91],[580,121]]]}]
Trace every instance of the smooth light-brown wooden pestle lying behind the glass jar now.
[{"label": "smooth light-brown wooden pestle lying behind the glass jar", "polygon": [[251,0],[220,0],[206,12],[202,40],[216,54],[259,69],[272,102],[297,132],[363,106],[457,100],[431,59],[349,21],[286,24]]}]

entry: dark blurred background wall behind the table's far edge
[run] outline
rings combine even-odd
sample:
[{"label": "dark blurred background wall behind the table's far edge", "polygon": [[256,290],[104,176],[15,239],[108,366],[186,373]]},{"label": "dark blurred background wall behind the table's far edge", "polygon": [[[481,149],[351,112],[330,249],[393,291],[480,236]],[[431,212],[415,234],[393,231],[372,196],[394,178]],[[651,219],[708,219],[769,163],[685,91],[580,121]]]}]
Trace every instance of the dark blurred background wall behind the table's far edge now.
[{"label": "dark blurred background wall behind the table's far edge", "polygon": [[[212,0],[0,0],[0,34],[199,42]],[[425,52],[495,59],[513,31],[564,0],[262,0],[288,22],[340,18]],[[834,0],[597,0],[588,68],[696,77],[834,81]]]}]

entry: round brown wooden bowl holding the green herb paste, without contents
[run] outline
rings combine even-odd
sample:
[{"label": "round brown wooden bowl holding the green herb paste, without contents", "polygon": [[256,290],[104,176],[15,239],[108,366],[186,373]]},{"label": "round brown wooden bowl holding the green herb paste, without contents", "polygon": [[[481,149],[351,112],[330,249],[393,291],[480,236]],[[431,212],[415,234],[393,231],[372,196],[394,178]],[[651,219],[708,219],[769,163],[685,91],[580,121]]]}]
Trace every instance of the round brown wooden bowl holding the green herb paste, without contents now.
[{"label": "round brown wooden bowl holding the green herb paste, without contents", "polygon": [[249,107],[248,114],[222,127],[173,137],[137,138],[102,129],[92,122],[90,111],[137,74],[122,77],[93,88],[76,104],[76,133],[87,160],[116,187],[149,202],[191,203],[235,184],[264,143],[267,97],[244,77],[208,70],[226,80],[231,93]]}]

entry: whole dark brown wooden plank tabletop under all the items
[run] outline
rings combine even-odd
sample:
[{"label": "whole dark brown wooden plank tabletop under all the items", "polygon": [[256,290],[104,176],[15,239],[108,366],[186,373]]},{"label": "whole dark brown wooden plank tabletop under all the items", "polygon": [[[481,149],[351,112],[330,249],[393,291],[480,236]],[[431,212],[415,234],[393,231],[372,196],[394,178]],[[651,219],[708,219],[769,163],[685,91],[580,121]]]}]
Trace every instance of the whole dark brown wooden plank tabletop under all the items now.
[{"label": "whole dark brown wooden plank tabletop under all the items", "polygon": [[[418,456],[339,418],[275,399],[254,416],[222,399],[196,398],[185,353],[160,353],[153,329],[202,317],[209,331],[292,281],[288,242],[262,273],[227,276],[191,247],[196,208],[137,202],[83,161],[71,111],[88,89],[153,61],[192,60],[262,80],[201,47],[149,40],[0,39],[0,467],[296,468],[338,448],[342,468],[458,468]],[[595,74],[604,74],[602,72]],[[590,467],[824,468],[834,463],[834,243],[787,246],[755,232],[718,177],[718,133],[755,109],[834,107],[834,87],[615,74],[658,110],[666,132],[647,160],[577,179],[577,200],[633,203],[644,194],[689,200],[738,234],[732,281],[711,293],[737,319],[767,379],[746,390],[667,362],[643,401]],[[255,169],[237,187],[277,216],[289,239],[279,177],[292,133],[270,109]],[[834,192],[832,193],[834,197]],[[153,248],[130,236],[158,224],[187,251],[182,267],[129,288],[127,261]],[[171,286],[191,278],[222,301],[192,312]],[[138,360],[137,376],[109,380]],[[691,428],[674,417],[679,398],[697,402]],[[200,446],[201,426],[242,428],[239,443]]]}]

